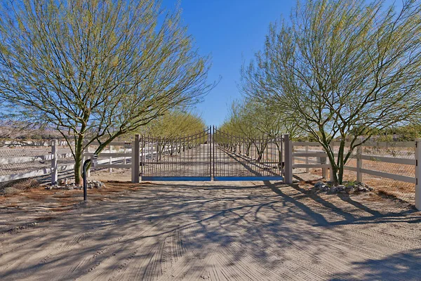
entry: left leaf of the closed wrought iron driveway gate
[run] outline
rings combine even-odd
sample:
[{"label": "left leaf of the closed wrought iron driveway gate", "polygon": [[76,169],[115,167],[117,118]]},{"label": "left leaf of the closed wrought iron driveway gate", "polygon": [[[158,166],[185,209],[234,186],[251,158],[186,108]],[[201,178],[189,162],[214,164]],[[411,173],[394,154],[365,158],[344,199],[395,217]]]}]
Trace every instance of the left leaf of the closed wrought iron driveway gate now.
[{"label": "left leaf of the closed wrought iron driveway gate", "polygon": [[142,136],[142,181],[210,181],[211,129],[191,136]]}]

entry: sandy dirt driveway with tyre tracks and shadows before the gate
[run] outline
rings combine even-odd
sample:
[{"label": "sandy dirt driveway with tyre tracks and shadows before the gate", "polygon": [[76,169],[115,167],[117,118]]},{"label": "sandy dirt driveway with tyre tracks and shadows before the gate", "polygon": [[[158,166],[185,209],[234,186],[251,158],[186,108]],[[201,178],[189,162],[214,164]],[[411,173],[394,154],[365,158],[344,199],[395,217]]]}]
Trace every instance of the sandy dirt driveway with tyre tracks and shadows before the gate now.
[{"label": "sandy dirt driveway with tyre tracks and shadows before the gate", "polygon": [[0,235],[0,280],[74,279],[420,280],[421,214],[281,183],[143,183]]}]

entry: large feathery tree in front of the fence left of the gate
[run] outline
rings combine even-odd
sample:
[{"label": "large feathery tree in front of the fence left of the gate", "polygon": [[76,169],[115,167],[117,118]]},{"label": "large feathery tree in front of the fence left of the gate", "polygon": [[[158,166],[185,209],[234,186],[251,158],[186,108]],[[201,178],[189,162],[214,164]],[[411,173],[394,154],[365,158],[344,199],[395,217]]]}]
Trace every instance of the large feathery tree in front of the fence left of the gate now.
[{"label": "large feathery tree in front of the fence left of the gate", "polygon": [[95,153],[168,110],[201,100],[208,57],[197,53],[180,10],[153,0],[2,1],[1,112],[60,131],[81,178]]}]

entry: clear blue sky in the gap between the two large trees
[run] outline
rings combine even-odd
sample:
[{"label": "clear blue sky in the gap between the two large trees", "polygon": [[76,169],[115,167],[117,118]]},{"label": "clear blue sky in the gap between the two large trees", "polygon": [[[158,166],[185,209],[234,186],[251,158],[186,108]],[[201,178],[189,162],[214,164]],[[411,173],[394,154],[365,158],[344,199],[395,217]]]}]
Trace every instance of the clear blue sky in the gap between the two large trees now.
[{"label": "clear blue sky in the gap between the two large trees", "polygon": [[[173,9],[177,0],[163,0]],[[199,51],[212,56],[209,81],[222,80],[197,105],[206,124],[220,125],[227,116],[227,107],[241,94],[242,60],[249,61],[265,40],[269,23],[288,16],[295,0],[182,0],[182,18],[189,33],[196,39]]]}]

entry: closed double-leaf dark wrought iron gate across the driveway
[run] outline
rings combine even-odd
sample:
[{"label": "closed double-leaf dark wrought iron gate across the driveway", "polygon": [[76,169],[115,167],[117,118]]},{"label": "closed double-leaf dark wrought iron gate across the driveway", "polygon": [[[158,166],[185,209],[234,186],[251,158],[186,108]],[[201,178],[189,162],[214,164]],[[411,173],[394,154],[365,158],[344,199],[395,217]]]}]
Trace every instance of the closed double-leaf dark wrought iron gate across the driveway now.
[{"label": "closed double-leaf dark wrought iron gate across the driveway", "polygon": [[191,136],[140,139],[142,181],[281,181],[283,140],[215,127]]}]

